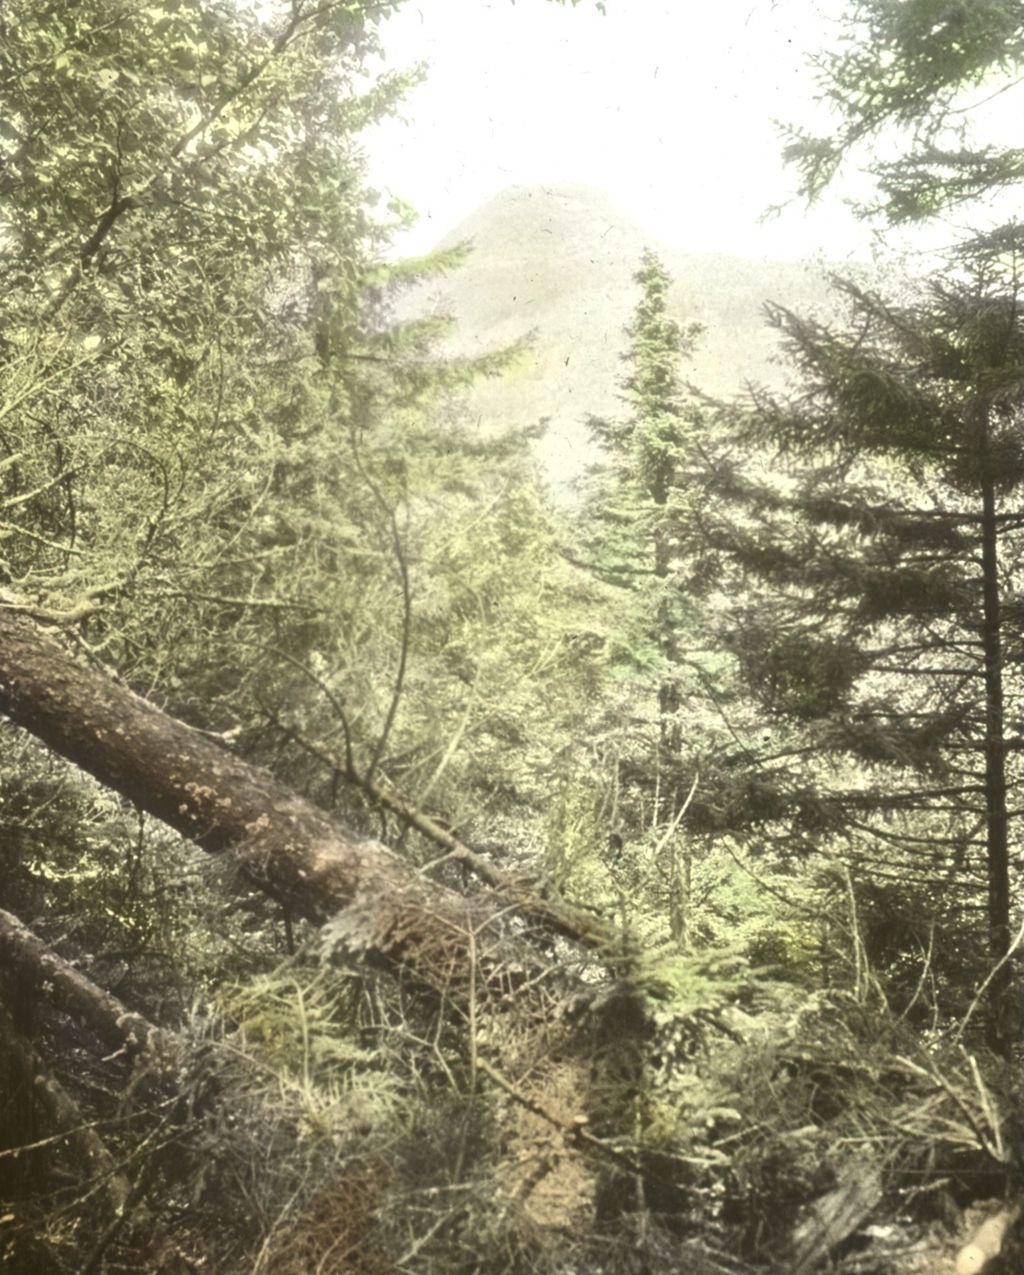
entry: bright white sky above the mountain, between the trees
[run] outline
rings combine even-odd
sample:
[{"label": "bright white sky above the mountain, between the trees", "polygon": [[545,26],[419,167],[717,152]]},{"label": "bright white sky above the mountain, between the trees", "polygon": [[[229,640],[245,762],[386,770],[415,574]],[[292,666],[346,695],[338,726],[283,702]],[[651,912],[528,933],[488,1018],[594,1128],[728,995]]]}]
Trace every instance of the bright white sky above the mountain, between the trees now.
[{"label": "bright white sky above the mountain, between the trees", "polygon": [[839,195],[792,205],[777,120],[828,127],[806,57],[843,0],[407,0],[388,65],[430,62],[407,122],[367,135],[371,176],[411,203],[402,254],[505,186],[581,181],[687,251],[835,261],[870,254]]}]

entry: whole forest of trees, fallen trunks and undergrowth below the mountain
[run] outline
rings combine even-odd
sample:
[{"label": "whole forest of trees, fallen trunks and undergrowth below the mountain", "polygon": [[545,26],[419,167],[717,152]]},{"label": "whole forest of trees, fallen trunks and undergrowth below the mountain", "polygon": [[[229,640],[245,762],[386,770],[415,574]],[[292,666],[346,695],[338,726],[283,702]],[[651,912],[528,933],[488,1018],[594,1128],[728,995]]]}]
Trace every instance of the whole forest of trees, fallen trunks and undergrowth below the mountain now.
[{"label": "whole forest of trees, fallen trunks and undergrowth below the mountain", "polygon": [[644,252],[571,505],[400,6],[0,6],[0,1269],[1019,1271],[1024,4],[851,0],[793,193],[955,244],[728,399]]}]

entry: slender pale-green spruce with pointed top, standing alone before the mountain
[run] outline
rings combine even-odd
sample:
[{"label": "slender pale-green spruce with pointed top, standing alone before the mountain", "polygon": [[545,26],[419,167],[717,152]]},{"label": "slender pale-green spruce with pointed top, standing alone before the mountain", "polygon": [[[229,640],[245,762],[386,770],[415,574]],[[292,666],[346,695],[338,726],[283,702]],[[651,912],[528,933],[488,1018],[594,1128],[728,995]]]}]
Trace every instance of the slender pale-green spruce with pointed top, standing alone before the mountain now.
[{"label": "slender pale-green spruce with pointed top, standing alone before the mountain", "polygon": [[644,251],[634,282],[640,297],[625,328],[625,411],[589,421],[602,459],[590,473],[585,525],[593,570],[629,595],[630,617],[620,636],[633,635],[625,644],[634,674],[634,733],[644,723],[639,750],[634,743],[615,762],[613,787],[624,799],[615,802],[620,826],[613,844],[654,833],[663,861],[655,864],[655,890],[663,895],[671,938],[685,945],[692,863],[690,848],[680,849],[686,834],[677,825],[698,765],[685,745],[692,690],[685,648],[695,617],[680,586],[685,556],[677,529],[687,516],[699,431],[682,368],[701,329],[673,315],[673,280],[653,251]]}]

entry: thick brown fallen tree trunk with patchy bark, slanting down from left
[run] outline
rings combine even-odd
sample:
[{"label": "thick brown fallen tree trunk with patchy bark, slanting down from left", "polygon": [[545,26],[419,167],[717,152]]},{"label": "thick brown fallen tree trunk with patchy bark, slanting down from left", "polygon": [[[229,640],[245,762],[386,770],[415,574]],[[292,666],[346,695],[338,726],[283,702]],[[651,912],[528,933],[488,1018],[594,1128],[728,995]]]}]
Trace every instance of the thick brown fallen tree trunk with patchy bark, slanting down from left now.
[{"label": "thick brown fallen tree trunk with patchy bark, slanting down from left", "polygon": [[[360,955],[407,966],[450,992],[453,982],[468,980],[471,946],[477,958],[494,956],[508,938],[495,909],[418,878],[384,845],[357,838],[269,771],[79,664],[3,606],[0,711],[208,853],[230,857],[292,913],[323,924],[344,910],[337,932]],[[536,955],[523,943],[511,947],[518,961]]]}]

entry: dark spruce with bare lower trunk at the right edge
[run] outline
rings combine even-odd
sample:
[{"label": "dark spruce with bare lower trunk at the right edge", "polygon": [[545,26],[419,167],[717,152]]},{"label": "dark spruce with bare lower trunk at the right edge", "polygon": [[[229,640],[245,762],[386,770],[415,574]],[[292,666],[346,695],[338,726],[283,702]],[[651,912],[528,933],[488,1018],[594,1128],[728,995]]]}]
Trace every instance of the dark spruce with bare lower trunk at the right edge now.
[{"label": "dark spruce with bare lower trunk at the right edge", "polygon": [[842,284],[842,330],[773,307],[800,381],[735,422],[704,527],[754,586],[728,621],[740,663],[819,759],[800,816],[968,909],[981,867],[1006,1051],[1024,325],[979,254],[913,303]]}]

